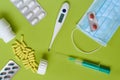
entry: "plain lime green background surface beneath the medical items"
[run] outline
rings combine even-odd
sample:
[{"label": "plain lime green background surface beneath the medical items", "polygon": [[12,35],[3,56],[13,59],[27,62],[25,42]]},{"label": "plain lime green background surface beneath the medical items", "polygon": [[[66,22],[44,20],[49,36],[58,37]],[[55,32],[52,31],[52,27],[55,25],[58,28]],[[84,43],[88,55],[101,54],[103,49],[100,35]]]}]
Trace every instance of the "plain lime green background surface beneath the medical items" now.
[{"label": "plain lime green background surface beneath the medical items", "polygon": [[[67,0],[70,3],[69,14],[51,51],[48,52],[56,17],[64,1],[39,0],[41,6],[46,10],[47,16],[35,26],[31,26],[10,0],[0,0],[0,18],[4,17],[11,24],[16,33],[15,39],[20,39],[21,34],[24,34],[27,45],[35,50],[36,61],[39,63],[42,56],[46,55],[49,64],[44,76],[26,70],[22,62],[18,61],[13,54],[11,44],[15,39],[7,44],[0,40],[0,69],[12,59],[21,67],[12,80],[119,80],[120,29],[117,30],[107,47],[102,47],[93,54],[78,52],[71,41],[72,30],[93,0]],[[84,50],[91,50],[99,46],[78,30],[74,33],[74,40],[77,46]],[[111,73],[107,75],[72,63],[67,60],[70,55],[110,66]]]}]

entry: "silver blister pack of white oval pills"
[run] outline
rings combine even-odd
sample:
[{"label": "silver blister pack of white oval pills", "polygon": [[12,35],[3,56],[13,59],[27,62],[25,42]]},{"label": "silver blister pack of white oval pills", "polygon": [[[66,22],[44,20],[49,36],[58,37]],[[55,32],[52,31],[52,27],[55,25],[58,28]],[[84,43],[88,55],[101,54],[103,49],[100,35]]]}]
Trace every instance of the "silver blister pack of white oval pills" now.
[{"label": "silver blister pack of white oval pills", "polygon": [[20,10],[26,19],[35,25],[42,20],[46,12],[36,0],[11,0],[11,2]]}]

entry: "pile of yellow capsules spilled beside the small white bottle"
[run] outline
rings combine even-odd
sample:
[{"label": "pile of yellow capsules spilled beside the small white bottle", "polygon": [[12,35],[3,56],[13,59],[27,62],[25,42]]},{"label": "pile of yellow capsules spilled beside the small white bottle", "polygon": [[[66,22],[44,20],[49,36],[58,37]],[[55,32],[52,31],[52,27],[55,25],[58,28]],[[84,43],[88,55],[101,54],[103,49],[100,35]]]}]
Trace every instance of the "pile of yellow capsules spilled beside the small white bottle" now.
[{"label": "pile of yellow capsules spilled beside the small white bottle", "polygon": [[35,51],[28,47],[24,41],[24,35],[21,37],[21,41],[15,40],[12,44],[14,54],[18,60],[21,60],[26,69],[31,69],[36,72],[38,69],[38,64],[35,61]]}]

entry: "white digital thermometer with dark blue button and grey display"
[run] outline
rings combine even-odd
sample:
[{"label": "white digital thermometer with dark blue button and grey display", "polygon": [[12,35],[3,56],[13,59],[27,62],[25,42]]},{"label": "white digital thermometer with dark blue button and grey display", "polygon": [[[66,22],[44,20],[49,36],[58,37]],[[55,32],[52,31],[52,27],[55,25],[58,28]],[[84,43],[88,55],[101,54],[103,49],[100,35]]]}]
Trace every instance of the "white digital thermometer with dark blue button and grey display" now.
[{"label": "white digital thermometer with dark blue button and grey display", "polygon": [[68,10],[69,10],[69,4],[67,2],[65,2],[61,9],[60,9],[60,12],[58,14],[58,17],[56,19],[56,24],[55,24],[55,28],[54,28],[54,33],[53,33],[53,36],[52,36],[52,40],[51,40],[51,43],[50,43],[50,46],[49,46],[49,49],[48,51],[50,51],[51,47],[52,47],[52,44],[58,34],[58,32],[60,31],[60,29],[62,28],[62,25],[66,19],[66,16],[68,14]]}]

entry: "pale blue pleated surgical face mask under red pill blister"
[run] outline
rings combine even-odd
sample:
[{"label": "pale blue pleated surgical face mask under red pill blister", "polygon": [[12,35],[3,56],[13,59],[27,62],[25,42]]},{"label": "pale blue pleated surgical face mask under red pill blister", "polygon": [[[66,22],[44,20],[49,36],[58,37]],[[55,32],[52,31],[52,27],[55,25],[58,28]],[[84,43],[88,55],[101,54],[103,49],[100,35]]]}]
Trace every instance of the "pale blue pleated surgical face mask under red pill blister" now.
[{"label": "pale blue pleated surgical face mask under red pill blister", "polygon": [[[99,28],[91,31],[88,13],[94,12]],[[120,0],[95,0],[77,28],[102,46],[106,46],[120,26]]]}]

